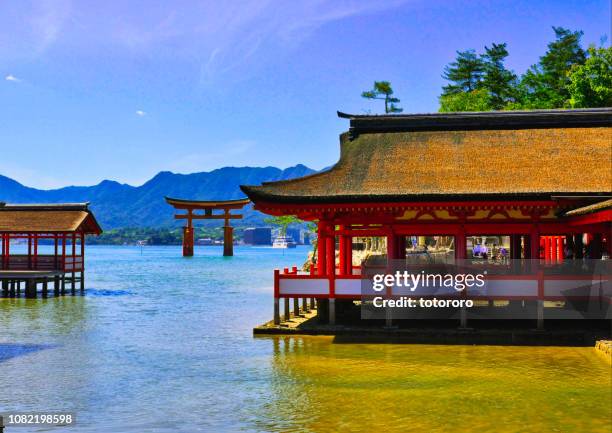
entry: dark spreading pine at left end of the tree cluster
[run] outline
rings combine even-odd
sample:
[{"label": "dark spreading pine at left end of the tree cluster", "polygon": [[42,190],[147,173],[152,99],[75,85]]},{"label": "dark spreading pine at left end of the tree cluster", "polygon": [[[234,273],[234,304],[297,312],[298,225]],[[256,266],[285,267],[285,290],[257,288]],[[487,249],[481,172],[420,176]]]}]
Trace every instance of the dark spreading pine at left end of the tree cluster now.
[{"label": "dark spreading pine at left end of the tree cluster", "polygon": [[484,64],[474,50],[457,51],[455,61],[444,67],[442,78],[450,84],[442,88],[442,95],[454,95],[478,89],[483,73]]}]

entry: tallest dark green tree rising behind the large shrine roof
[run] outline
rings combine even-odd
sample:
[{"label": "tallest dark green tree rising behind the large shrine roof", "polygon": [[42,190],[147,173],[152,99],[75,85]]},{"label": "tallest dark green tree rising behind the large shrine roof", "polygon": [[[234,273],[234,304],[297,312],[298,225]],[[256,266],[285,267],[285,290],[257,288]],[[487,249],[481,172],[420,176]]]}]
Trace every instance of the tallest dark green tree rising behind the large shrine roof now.
[{"label": "tallest dark green tree rising behind the large shrine roof", "polygon": [[583,32],[553,27],[555,40],[521,78],[519,92],[523,108],[562,108],[569,105],[568,73],[582,65],[586,55],[580,46]]}]

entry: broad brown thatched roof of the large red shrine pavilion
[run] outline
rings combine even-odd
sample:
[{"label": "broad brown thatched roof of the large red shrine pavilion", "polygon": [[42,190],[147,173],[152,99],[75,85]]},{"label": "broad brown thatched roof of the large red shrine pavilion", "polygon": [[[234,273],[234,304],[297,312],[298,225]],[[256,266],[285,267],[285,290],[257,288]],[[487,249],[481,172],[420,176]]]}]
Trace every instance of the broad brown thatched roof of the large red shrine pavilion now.
[{"label": "broad brown thatched roof of the large red shrine pavilion", "polygon": [[610,193],[612,109],[463,118],[354,116],[330,170],[241,188],[255,202],[286,203]]}]

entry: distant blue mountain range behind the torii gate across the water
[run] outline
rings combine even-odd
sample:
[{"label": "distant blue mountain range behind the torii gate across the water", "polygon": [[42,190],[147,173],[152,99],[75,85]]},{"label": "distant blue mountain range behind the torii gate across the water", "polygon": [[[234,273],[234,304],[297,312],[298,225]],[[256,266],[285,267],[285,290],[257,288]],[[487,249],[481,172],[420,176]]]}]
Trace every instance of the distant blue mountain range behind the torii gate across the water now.
[{"label": "distant blue mountain range behind the torii gate across the water", "polygon": [[[304,165],[281,170],[276,167],[223,167],[210,172],[176,174],[162,171],[141,186],[104,180],[94,186],[68,186],[53,190],[29,188],[0,175],[0,201],[8,203],[91,203],[91,209],[104,229],[121,227],[169,227],[178,224],[164,196],[215,200],[244,197],[239,185],[258,185],[314,173]],[[245,208],[246,209],[246,208]],[[261,225],[264,216],[245,210],[240,225]],[[218,225],[218,221],[213,221]]]}]

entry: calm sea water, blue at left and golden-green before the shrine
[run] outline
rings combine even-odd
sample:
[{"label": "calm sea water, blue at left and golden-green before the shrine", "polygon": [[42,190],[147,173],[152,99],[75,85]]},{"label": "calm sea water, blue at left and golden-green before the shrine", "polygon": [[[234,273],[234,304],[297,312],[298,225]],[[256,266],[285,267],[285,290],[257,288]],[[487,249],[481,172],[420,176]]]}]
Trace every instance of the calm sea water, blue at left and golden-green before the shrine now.
[{"label": "calm sea water, blue at left and golden-green before the shrine", "polygon": [[7,433],[611,431],[592,348],[254,338],[304,247],[87,253],[85,296],[0,300],[0,413],[77,414]]}]

